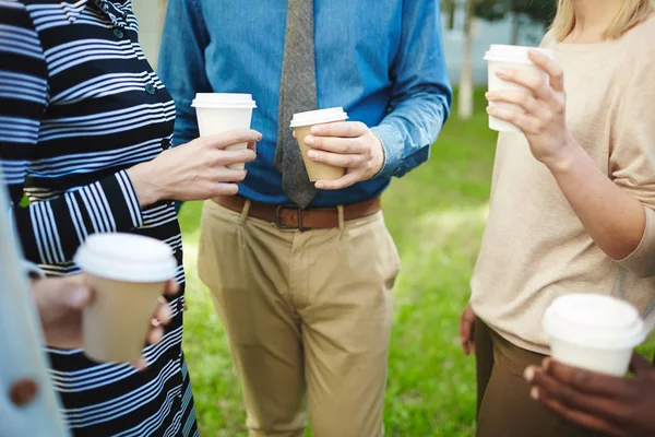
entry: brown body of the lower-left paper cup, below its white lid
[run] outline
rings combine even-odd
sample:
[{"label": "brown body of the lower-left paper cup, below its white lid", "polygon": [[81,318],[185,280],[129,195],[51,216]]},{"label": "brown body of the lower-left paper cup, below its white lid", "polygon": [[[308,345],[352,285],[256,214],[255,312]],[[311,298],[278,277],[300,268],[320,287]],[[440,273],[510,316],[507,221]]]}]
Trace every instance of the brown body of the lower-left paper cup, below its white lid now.
[{"label": "brown body of the lower-left paper cup, below its white lid", "polygon": [[84,352],[100,363],[141,358],[166,282],[115,281],[85,273],[94,299],[83,312]]}]

